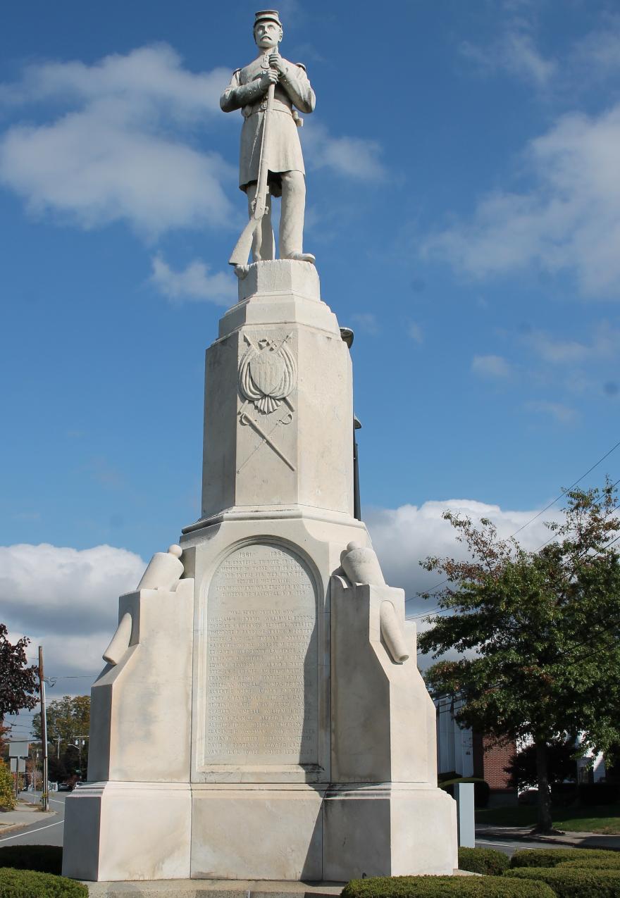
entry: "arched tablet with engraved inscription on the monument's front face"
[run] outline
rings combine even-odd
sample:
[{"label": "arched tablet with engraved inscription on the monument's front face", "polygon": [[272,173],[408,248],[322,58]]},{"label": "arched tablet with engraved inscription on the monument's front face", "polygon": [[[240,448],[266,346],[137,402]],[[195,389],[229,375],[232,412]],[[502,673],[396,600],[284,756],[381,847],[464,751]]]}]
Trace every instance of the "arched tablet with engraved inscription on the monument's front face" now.
[{"label": "arched tablet with engraved inscription on the monument's front face", "polygon": [[208,590],[205,761],[318,762],[316,595],[291,550],[244,546]]}]

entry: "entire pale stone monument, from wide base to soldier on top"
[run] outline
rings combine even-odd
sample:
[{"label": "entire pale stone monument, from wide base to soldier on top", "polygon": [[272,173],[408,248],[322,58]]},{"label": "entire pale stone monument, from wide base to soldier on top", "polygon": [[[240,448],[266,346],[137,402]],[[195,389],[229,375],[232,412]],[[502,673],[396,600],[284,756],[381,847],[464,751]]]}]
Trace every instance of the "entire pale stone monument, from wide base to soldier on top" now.
[{"label": "entire pale stone monument, from wide base to soldier on top", "polygon": [[[255,35],[269,25],[279,38],[278,13],[257,13]],[[257,70],[254,105],[291,77],[268,58],[278,78]],[[267,109],[252,128],[291,116]],[[89,781],[66,801],[66,876],[344,882],[457,866],[415,627],[353,516],[350,331],[300,254],[233,260],[239,300],[207,350],[202,514],[120,597]]]}]

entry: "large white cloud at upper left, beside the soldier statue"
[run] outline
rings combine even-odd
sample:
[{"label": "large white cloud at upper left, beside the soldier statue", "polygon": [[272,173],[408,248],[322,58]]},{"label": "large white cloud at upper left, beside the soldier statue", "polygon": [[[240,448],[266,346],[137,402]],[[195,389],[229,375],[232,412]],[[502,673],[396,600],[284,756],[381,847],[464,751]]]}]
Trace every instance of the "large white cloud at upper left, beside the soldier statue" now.
[{"label": "large white cloud at upper left, beside the soldier statue", "polygon": [[32,213],[52,212],[85,228],[126,221],[154,237],[169,228],[223,225],[232,207],[221,185],[234,183],[235,171],[192,146],[189,128],[219,114],[227,77],[182,69],[165,45],[93,66],[29,66],[20,83],[2,85],[0,102],[53,101],[65,111],[4,133],[0,182]]}]

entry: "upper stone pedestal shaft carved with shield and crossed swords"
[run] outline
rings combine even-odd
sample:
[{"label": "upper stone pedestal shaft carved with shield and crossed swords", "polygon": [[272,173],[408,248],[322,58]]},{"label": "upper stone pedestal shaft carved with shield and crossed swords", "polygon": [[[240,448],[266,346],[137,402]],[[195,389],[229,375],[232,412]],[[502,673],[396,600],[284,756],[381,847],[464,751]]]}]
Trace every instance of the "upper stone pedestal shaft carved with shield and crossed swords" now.
[{"label": "upper stone pedestal shaft carved with shield and crossed swords", "polygon": [[[314,271],[252,269],[268,265]],[[325,304],[290,292],[275,302],[265,277],[207,351],[202,516],[288,504],[352,515],[349,349]]]}]

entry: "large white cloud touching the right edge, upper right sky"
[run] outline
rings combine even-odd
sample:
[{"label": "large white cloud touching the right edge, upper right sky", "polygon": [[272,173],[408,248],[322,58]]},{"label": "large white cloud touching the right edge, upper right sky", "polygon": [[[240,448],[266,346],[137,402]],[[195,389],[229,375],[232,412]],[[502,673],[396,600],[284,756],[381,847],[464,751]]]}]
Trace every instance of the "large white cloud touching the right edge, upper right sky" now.
[{"label": "large white cloud touching the right edge, upper right sky", "polygon": [[480,200],[469,222],[430,237],[422,253],[475,278],[539,265],[576,274],[584,295],[620,298],[620,104],[571,113],[526,149],[535,185]]}]

